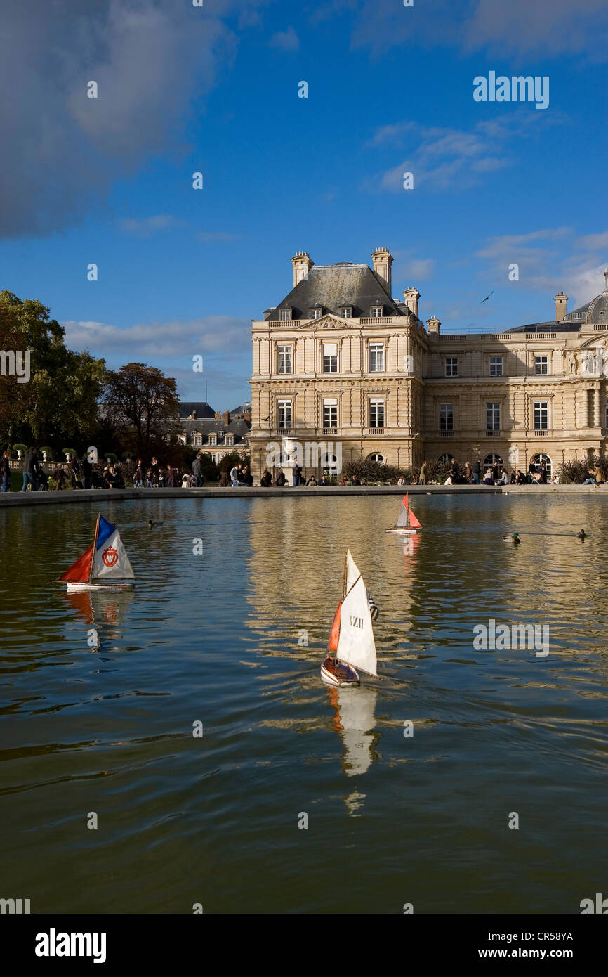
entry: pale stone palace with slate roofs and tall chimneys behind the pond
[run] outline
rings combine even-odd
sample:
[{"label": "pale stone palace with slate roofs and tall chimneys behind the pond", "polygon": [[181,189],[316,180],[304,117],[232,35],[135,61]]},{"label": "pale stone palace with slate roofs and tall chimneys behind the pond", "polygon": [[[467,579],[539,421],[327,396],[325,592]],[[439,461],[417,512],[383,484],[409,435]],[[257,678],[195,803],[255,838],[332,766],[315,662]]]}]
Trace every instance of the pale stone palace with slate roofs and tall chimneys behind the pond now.
[{"label": "pale stone palace with slate roofs and tall chimneys behind the pond", "polygon": [[603,453],[608,270],[603,292],[574,312],[559,292],[549,321],[448,334],[421,321],[416,288],[392,298],[392,260],[378,248],[372,268],[315,266],[301,251],[292,290],[252,322],[256,479],[296,457],[318,477],[360,457],[418,468],[478,456],[508,472],[544,458],[550,473]]}]

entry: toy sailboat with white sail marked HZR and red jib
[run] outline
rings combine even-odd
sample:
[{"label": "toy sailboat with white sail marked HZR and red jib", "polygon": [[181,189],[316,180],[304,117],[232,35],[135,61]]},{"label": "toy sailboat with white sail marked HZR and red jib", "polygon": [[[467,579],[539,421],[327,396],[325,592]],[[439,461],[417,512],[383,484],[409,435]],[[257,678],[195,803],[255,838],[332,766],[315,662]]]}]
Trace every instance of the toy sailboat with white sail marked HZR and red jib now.
[{"label": "toy sailboat with white sail marked HZR and red jib", "polygon": [[342,598],[321,665],[321,678],[326,685],[358,685],[357,668],[378,678],[372,616],[378,616],[378,608],[347,550]]}]

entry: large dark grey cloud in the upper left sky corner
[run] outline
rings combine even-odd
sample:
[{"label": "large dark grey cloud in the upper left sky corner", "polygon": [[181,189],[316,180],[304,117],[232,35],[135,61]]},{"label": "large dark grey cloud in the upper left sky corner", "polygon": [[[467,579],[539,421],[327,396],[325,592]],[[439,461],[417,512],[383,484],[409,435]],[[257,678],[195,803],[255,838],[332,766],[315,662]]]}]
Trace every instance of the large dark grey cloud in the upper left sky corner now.
[{"label": "large dark grey cloud in the upper left sky corner", "polygon": [[264,3],[6,0],[0,237],[77,223],[115,179],[179,142],[193,99],[233,61],[236,35],[221,18]]}]

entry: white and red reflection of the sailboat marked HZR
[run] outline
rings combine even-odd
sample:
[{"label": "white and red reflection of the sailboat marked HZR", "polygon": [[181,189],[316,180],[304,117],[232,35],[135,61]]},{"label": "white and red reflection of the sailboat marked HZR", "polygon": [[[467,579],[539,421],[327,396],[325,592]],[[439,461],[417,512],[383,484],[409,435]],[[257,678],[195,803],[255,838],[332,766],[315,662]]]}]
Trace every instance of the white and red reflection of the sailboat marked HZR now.
[{"label": "white and red reflection of the sailboat marked HZR", "polygon": [[334,708],[334,729],[345,747],[342,767],[346,777],[364,774],[375,760],[377,690],[364,686],[352,695],[348,689],[330,689]]}]

